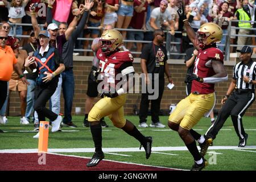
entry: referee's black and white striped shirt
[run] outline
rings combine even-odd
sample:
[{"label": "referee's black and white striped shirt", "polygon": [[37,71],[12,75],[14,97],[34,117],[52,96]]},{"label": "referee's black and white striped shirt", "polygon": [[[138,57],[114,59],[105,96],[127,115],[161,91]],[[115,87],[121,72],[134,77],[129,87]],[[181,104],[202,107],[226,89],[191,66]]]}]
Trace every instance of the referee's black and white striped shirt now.
[{"label": "referee's black and white striped shirt", "polygon": [[256,62],[250,60],[249,64],[237,63],[233,69],[233,79],[237,80],[237,89],[255,90],[255,85],[243,81],[243,76],[256,80]]}]

